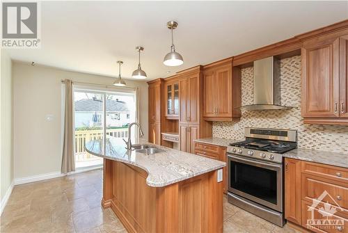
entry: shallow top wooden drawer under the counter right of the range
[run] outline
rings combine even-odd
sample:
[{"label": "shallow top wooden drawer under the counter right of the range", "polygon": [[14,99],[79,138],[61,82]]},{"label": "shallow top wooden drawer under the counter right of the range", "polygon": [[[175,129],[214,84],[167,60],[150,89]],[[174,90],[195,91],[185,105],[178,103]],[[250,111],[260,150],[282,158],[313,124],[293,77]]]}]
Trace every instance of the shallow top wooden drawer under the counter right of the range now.
[{"label": "shallow top wooden drawer under the counter right of the range", "polygon": [[338,182],[348,182],[348,169],[335,166],[324,165],[320,163],[311,163],[302,161],[302,172],[327,179],[334,179]]}]

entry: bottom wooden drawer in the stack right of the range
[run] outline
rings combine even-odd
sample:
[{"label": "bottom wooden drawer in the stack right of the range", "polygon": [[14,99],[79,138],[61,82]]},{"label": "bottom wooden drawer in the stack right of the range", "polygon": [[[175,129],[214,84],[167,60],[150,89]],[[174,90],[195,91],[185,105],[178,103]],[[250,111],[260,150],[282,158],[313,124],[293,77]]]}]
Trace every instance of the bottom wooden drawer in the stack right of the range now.
[{"label": "bottom wooden drawer in the stack right of the range", "polygon": [[[348,232],[348,220],[336,216],[335,214],[329,214],[323,211],[319,211],[322,207],[315,207],[311,202],[302,201],[302,226],[312,230],[313,232],[328,232],[328,233],[342,233]],[[325,216],[323,216],[324,214]],[[313,220],[314,219],[314,220]],[[317,220],[317,221],[315,221]],[[322,222],[321,220],[326,220]],[[335,225],[320,225],[321,223],[335,223]]]}]

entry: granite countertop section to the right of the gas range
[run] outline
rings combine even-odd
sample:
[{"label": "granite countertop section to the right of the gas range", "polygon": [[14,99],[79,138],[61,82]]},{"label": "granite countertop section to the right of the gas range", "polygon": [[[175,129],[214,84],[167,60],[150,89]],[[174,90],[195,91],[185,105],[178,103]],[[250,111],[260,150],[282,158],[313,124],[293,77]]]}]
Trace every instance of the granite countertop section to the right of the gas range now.
[{"label": "granite countertop section to the right of the gas range", "polygon": [[283,156],[291,159],[300,159],[303,161],[348,168],[348,154],[297,148],[295,150],[290,150],[290,152],[286,152]]}]

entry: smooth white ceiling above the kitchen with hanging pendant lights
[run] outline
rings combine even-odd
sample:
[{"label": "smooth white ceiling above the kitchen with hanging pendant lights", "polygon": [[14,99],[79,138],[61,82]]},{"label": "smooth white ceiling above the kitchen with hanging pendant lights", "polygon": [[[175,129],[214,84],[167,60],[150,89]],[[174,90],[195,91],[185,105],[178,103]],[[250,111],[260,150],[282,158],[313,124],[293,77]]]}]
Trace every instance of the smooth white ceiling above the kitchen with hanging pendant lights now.
[{"label": "smooth white ceiling above the kitchen with hanging pendant lights", "polygon": [[[150,80],[348,19],[348,1],[43,1],[41,14],[41,49],[10,49],[14,60],[110,77],[122,60],[127,79],[141,45]],[[180,67],[163,65],[171,19]]]}]

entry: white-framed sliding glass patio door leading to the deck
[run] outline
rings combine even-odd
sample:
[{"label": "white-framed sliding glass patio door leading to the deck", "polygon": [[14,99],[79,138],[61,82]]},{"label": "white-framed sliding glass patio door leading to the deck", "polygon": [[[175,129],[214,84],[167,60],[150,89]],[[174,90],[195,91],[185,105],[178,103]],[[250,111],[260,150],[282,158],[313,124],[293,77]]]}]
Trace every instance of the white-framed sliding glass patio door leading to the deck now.
[{"label": "white-framed sliding glass patio door leading to the deck", "polygon": [[[77,169],[102,166],[102,158],[84,149],[90,140],[108,140],[110,137],[127,140],[128,125],[136,121],[135,99],[135,93],[74,89],[74,153]],[[134,142],[136,134],[134,129],[132,131]]]}]

